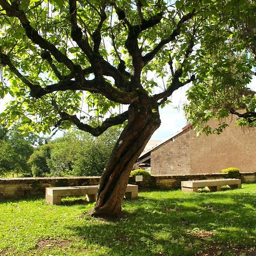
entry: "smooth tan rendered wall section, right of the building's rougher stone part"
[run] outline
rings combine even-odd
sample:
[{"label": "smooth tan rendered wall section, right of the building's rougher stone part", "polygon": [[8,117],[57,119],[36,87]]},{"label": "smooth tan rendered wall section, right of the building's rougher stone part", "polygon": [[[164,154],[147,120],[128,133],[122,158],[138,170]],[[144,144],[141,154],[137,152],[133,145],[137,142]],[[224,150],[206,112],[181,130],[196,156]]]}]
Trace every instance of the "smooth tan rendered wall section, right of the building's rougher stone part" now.
[{"label": "smooth tan rendered wall section, right of the building's rougher stone part", "polygon": [[229,167],[242,172],[256,171],[256,129],[237,127],[231,123],[220,134],[196,137],[189,131],[191,174],[217,173]]}]

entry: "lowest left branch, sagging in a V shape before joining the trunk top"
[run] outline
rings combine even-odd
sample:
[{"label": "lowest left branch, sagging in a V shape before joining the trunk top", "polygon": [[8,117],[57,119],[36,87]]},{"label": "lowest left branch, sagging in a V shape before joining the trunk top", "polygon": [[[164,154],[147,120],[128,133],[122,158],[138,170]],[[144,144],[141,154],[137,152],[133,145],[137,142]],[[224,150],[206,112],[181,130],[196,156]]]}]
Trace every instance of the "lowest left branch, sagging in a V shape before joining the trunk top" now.
[{"label": "lowest left branch, sagging in a V shape before joining the trunk top", "polygon": [[102,122],[101,126],[92,127],[87,125],[86,123],[82,123],[76,115],[69,115],[66,112],[59,112],[60,114],[60,121],[56,123],[55,126],[59,126],[63,121],[70,121],[74,125],[76,125],[80,130],[87,131],[88,133],[92,134],[93,136],[99,136],[104,133],[109,127],[114,125],[121,125],[128,119],[128,110],[122,114],[116,115],[115,117],[107,118],[104,122]]}]

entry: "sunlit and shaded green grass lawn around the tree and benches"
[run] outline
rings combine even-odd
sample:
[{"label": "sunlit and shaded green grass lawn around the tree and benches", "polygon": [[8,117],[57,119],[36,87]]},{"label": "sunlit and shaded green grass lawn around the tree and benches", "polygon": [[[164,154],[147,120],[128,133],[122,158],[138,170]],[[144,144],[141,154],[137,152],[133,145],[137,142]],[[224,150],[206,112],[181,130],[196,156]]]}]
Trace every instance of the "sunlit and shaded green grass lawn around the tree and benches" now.
[{"label": "sunlit and shaded green grass lawn around the tree and benches", "polygon": [[210,193],[140,192],[117,221],[73,198],[0,202],[0,255],[256,255],[256,184]]}]

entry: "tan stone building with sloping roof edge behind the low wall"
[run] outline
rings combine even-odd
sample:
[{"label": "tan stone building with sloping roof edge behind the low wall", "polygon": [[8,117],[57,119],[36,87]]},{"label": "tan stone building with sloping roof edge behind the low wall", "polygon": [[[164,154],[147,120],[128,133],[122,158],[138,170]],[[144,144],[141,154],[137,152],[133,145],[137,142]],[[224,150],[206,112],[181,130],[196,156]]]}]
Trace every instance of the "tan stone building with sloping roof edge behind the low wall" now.
[{"label": "tan stone building with sloping roof edge behind the low wall", "polygon": [[231,120],[220,135],[197,137],[192,126],[187,125],[143,151],[135,166],[150,167],[152,175],[214,174],[229,167],[255,172],[256,129],[238,127]]}]

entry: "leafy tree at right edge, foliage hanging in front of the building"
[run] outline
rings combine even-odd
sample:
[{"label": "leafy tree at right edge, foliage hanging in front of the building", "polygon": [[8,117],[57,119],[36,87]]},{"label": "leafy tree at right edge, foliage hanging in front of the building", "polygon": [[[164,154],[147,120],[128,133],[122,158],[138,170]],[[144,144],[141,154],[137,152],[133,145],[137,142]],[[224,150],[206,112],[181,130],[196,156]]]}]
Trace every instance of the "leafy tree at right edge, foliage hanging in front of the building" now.
[{"label": "leafy tree at right edge, foliage hanging in front of the building", "polygon": [[[236,4],[228,1],[220,16],[208,23],[207,40],[196,60],[199,75],[187,92],[184,109],[199,133],[221,133],[230,114],[237,115],[241,126],[256,126],[256,92],[247,88],[256,78],[256,5],[240,1],[234,9]],[[211,118],[219,121],[218,127],[207,125]]]}]

